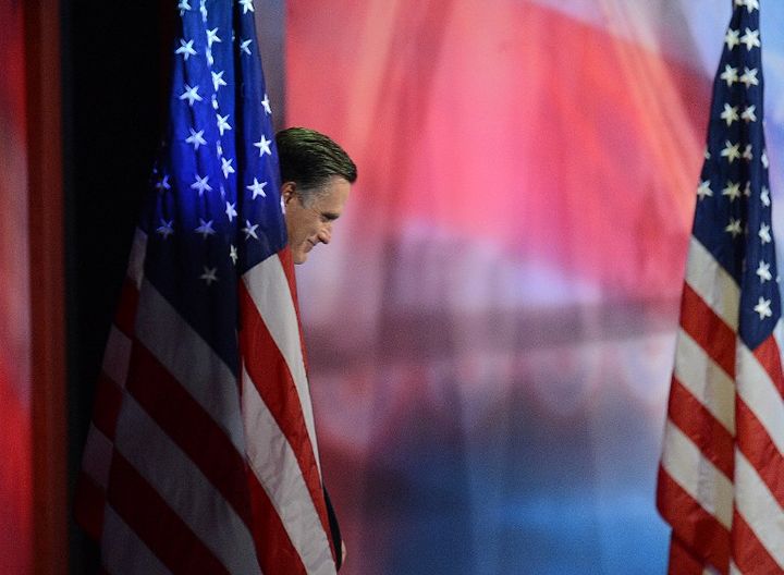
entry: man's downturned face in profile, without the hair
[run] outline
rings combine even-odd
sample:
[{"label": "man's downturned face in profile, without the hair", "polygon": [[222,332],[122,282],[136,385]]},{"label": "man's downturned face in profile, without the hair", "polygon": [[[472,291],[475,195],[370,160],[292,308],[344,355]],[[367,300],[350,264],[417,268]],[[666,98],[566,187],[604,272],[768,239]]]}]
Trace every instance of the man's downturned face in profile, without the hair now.
[{"label": "man's downturned face in profile, without the hair", "polygon": [[303,200],[293,183],[283,184],[286,231],[294,264],[303,264],[319,243],[329,244],[332,223],[343,213],[351,184],[332,176],[309,201]]}]

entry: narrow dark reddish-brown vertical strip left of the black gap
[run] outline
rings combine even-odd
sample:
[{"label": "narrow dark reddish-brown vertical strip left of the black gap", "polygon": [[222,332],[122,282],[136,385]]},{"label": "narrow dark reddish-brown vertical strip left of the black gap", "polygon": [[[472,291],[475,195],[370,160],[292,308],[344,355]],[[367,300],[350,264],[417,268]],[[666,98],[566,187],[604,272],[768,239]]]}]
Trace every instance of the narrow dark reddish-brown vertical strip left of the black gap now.
[{"label": "narrow dark reddish-brown vertical strip left of the black gap", "polygon": [[30,261],[33,561],[65,573],[65,374],[59,1],[25,2]]}]

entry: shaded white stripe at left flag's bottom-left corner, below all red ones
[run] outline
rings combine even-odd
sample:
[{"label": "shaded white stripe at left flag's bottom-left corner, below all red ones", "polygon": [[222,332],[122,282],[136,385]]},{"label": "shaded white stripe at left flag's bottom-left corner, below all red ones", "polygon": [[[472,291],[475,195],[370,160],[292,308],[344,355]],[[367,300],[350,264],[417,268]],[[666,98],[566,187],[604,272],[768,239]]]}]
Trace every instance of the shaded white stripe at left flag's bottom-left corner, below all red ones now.
[{"label": "shaded white stripe at left flag's bottom-left corner, below all red ones", "polygon": [[123,543],[101,547],[103,567],[111,575],[167,575],[171,573],[110,505],[106,505],[105,509],[101,540],[105,542],[122,541]]}]

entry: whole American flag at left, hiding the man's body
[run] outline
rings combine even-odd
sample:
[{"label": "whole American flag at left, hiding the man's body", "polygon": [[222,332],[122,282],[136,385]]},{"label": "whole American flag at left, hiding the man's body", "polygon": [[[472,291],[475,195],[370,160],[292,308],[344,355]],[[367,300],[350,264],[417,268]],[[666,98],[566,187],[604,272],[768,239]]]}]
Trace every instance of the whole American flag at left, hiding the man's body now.
[{"label": "whole American flag at left, hiding the man's body", "polygon": [[253,0],[180,0],[76,515],[106,573],[332,574]]}]

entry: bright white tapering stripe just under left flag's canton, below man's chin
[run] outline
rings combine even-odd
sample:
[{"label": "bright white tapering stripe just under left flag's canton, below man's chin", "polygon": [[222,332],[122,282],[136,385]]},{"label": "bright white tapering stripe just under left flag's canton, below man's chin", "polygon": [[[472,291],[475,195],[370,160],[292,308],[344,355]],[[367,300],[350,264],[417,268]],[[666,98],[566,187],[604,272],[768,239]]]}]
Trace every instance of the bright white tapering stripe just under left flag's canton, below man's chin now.
[{"label": "bright white tapering stripe just under left flag's canton, below man's chin", "polygon": [[292,299],[289,281],[280,257],[274,255],[254,266],[243,276],[243,281],[254,301],[256,310],[267,326],[294,379],[320,476],[321,463],[319,462],[316,441],[316,425],[310,403],[310,389],[305,372],[296,310],[294,309],[294,301]]}]

